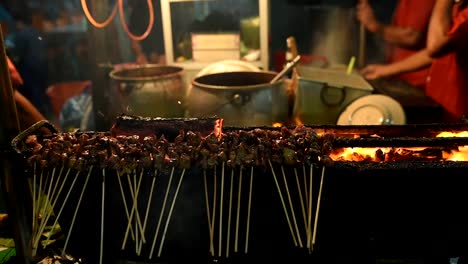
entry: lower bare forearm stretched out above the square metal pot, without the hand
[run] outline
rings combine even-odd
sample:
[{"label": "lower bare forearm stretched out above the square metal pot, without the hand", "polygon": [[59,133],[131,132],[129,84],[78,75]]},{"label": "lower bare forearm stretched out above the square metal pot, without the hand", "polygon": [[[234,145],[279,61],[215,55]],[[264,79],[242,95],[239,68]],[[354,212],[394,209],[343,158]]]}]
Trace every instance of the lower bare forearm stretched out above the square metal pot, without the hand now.
[{"label": "lower bare forearm stretched out above the square metal pot, without the hand", "polygon": [[426,49],[407,57],[404,60],[388,65],[388,75],[398,75],[401,73],[417,71],[419,69],[428,67],[432,63],[432,58]]}]

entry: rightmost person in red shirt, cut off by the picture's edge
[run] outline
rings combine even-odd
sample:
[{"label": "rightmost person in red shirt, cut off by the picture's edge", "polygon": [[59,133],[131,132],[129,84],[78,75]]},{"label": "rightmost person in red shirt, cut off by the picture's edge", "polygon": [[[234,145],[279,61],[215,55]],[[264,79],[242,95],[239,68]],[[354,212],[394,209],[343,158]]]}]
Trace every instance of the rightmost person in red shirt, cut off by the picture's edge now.
[{"label": "rightmost person in red shirt, cut off by the picture's edge", "polygon": [[449,122],[468,115],[467,47],[468,1],[437,0],[427,39],[433,61],[426,93],[445,109]]}]

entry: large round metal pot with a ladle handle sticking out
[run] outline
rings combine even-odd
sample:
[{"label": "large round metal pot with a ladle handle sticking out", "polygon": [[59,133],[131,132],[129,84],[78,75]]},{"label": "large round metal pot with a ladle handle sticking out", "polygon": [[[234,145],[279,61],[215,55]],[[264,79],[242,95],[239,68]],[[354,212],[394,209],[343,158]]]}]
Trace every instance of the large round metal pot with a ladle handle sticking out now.
[{"label": "large round metal pot with a ladle handle sticking out", "polygon": [[192,80],[190,117],[218,116],[226,126],[271,126],[285,123],[288,99],[284,81],[274,72],[223,72]]}]

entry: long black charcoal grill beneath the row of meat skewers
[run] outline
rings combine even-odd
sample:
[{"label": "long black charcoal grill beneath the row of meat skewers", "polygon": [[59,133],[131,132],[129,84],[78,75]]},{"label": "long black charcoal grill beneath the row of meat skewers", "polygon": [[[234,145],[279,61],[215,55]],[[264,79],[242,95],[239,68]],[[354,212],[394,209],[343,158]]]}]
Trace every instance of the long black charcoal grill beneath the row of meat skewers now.
[{"label": "long black charcoal grill beneath the row of meat skewers", "polygon": [[[42,125],[44,124],[46,123],[42,123]],[[29,129],[14,140],[13,144],[18,152],[24,154],[21,146],[26,136],[34,134],[40,126]],[[204,170],[193,167],[185,170],[179,198],[176,200],[170,225],[168,225],[163,254],[160,257],[153,257],[152,261],[178,263],[185,262],[187,257],[190,257],[190,259],[197,261],[233,263],[278,260],[295,263],[311,260],[317,263],[337,263],[337,261],[374,263],[376,258],[387,257],[419,257],[439,261],[451,256],[466,256],[468,250],[466,223],[468,219],[463,212],[465,202],[468,201],[468,192],[465,192],[465,186],[467,186],[465,174],[468,172],[466,161],[447,161],[432,156],[387,162],[346,161],[333,160],[330,158],[330,154],[342,148],[354,147],[407,149],[424,147],[434,149],[435,152],[441,149],[453,149],[468,145],[468,138],[439,138],[436,136],[447,131],[468,131],[468,125],[310,126],[307,128],[321,135],[319,159],[313,160],[312,163],[304,167],[302,164],[280,166],[281,164],[273,163],[271,167],[255,166],[253,168],[254,187],[251,197],[250,239],[247,254],[244,254],[244,247],[250,170],[248,168],[242,170],[244,178],[240,198],[242,207],[239,215],[242,220],[238,228],[242,231],[239,232],[238,247],[240,249],[234,252],[240,167],[235,166],[233,169],[232,200],[229,192],[232,177],[231,168],[224,167],[224,196],[220,198],[219,193],[217,196],[218,203],[223,201],[224,204],[223,224],[221,227],[215,226],[215,230],[217,230],[213,242],[215,254],[211,256],[209,224],[203,194]],[[281,128],[273,127],[225,127],[224,132],[252,131],[254,129],[281,131]],[[166,133],[171,132],[166,131]],[[81,134],[88,134],[92,137],[96,133],[82,132]],[[104,133],[104,135],[110,136],[108,133]],[[175,138],[176,135],[166,136]],[[429,153],[432,155],[434,151]],[[307,232],[304,231],[307,225],[302,223],[301,203],[298,198],[299,189],[305,192],[305,187],[308,185],[303,182],[296,185],[294,178],[295,172],[299,172],[302,181],[302,176],[309,176],[310,168],[313,168],[312,211],[320,209],[315,232],[316,244],[313,250],[305,249],[306,241],[309,238]],[[285,185],[282,181],[282,169],[288,179],[289,193],[292,196],[291,202],[288,201]],[[219,177],[222,170],[221,164],[215,169],[207,170],[209,174],[208,186],[214,184],[213,174],[215,171],[218,175],[217,186],[220,186]],[[325,170],[325,174],[321,177],[323,170]],[[172,194],[177,189],[176,183],[182,172],[182,168],[175,169],[174,175],[176,176],[173,179],[172,187],[170,187]],[[26,174],[31,177],[32,168],[29,168]],[[152,219],[152,221],[150,220],[152,224],[147,226],[148,229],[145,233],[145,236],[150,238],[157,229],[161,201],[164,200],[165,192],[161,186],[167,185],[170,174],[171,170],[160,171],[160,180],[157,182],[160,189],[154,193],[151,205],[154,210],[151,210],[148,217],[148,219]],[[101,176],[102,168],[93,169],[81,202],[81,209],[72,229],[71,237],[73,239],[70,239],[67,251],[96,260],[96,262],[99,259],[101,246]],[[144,172],[141,184],[142,197],[149,196],[153,177],[152,171]],[[145,245],[141,254],[138,255],[135,246],[132,245],[134,242],[128,240],[125,250],[121,250],[122,236],[127,227],[125,223],[128,220],[123,210],[123,199],[118,191],[119,184],[116,178],[115,171],[106,171],[105,228],[103,231],[105,262],[119,259],[148,261],[149,246]],[[135,181],[138,179],[138,177],[131,178]],[[79,181],[77,184],[83,185],[85,178],[80,177]],[[279,182],[280,187],[275,184],[276,182]],[[126,184],[128,183],[124,183],[124,188],[129,187]],[[323,188],[320,187],[321,185]],[[278,195],[278,188],[282,190],[282,197]],[[209,196],[211,197],[211,195],[212,192]],[[70,197],[73,198],[70,199],[69,204],[76,204],[79,196],[80,190],[75,189],[70,194]],[[167,207],[171,204],[170,199],[172,198],[169,198]],[[128,204],[131,203],[131,199],[128,197],[126,201]],[[213,201],[211,200],[211,202]],[[230,203],[233,204],[231,217],[229,217],[230,213],[227,209]],[[282,207],[282,203],[286,204],[287,209]],[[292,206],[288,205],[290,203]],[[140,199],[137,203],[138,208],[146,209],[147,205],[146,198]],[[63,212],[60,224],[65,231],[71,228],[70,223],[74,210],[74,206],[69,206]],[[288,211],[288,217],[285,217],[285,210]],[[292,210],[296,214],[295,221],[291,215]],[[311,217],[312,223],[315,218],[314,212]],[[143,217],[144,213],[140,214]],[[167,215],[167,211],[165,214]],[[218,218],[221,217],[219,212],[215,215]],[[231,219],[229,232],[227,229],[228,219]],[[296,222],[298,228],[295,228],[293,222]],[[288,225],[288,223],[291,224]],[[311,229],[312,226],[313,224],[311,224]],[[138,226],[135,225],[134,228],[138,229]],[[161,230],[163,228],[164,221]],[[218,247],[220,233],[222,246]],[[230,233],[230,253],[227,253],[226,245],[228,233]],[[294,245],[298,241],[293,243],[291,233],[296,235],[296,240],[298,240],[298,236],[302,238],[303,248]],[[312,234],[310,236],[312,237]],[[229,257],[227,257],[228,254]]]}]

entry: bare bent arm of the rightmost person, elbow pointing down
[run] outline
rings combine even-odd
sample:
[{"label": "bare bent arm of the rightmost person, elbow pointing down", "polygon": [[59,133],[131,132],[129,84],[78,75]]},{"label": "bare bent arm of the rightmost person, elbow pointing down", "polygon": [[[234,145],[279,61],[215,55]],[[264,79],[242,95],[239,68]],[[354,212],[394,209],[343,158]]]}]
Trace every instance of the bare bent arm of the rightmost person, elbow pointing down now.
[{"label": "bare bent arm of the rightmost person, elbow pointing down", "polygon": [[431,20],[427,37],[427,49],[432,57],[440,56],[450,43],[447,32],[451,24],[451,9],[453,0],[437,0]]}]

